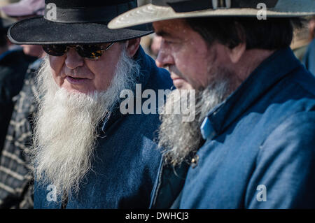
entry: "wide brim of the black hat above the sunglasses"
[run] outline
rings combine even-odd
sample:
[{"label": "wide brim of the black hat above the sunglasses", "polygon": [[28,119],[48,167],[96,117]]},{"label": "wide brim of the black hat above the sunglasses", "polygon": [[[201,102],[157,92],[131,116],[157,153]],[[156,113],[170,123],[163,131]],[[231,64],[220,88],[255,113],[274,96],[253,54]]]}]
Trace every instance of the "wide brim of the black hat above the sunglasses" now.
[{"label": "wide brim of the black hat above the sunglasses", "polygon": [[148,27],[112,30],[102,23],[62,23],[33,17],[16,22],[8,30],[15,44],[48,45],[76,43],[112,43],[153,33]]}]

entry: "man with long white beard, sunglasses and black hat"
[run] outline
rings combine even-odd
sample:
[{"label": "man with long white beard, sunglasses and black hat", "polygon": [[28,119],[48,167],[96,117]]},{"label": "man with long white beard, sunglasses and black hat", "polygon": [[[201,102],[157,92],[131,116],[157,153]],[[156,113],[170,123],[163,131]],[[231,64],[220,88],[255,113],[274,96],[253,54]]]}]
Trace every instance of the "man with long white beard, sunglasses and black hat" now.
[{"label": "man with long white beard, sunglasses and black hat", "polygon": [[120,92],[169,89],[139,46],[146,27],[106,24],[137,1],[45,1],[44,17],[10,28],[10,41],[43,45],[31,161],[34,208],[148,208],[161,156],[157,114],[123,115]]}]

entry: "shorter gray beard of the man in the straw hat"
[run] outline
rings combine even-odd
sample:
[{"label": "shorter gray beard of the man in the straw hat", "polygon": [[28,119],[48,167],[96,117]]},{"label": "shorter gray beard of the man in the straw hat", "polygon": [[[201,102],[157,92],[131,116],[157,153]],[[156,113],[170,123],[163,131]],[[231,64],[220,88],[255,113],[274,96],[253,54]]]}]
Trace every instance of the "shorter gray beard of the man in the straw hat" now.
[{"label": "shorter gray beard of the man in the straw hat", "polygon": [[[158,142],[159,146],[163,148],[165,157],[165,164],[172,164],[173,166],[181,164],[183,161],[190,163],[191,154],[197,152],[203,143],[200,126],[207,117],[209,111],[223,102],[230,92],[232,92],[230,80],[228,76],[230,73],[221,69],[221,75],[217,75],[216,82],[213,82],[206,89],[196,91],[195,99],[195,120],[192,122],[183,122],[183,114],[179,115],[161,115],[162,124],[159,129]],[[183,99],[175,89],[169,96],[165,103],[165,109],[180,106]],[[172,100],[172,97],[177,99]],[[184,99],[186,100],[186,99]],[[193,110],[190,110],[193,112]]]}]

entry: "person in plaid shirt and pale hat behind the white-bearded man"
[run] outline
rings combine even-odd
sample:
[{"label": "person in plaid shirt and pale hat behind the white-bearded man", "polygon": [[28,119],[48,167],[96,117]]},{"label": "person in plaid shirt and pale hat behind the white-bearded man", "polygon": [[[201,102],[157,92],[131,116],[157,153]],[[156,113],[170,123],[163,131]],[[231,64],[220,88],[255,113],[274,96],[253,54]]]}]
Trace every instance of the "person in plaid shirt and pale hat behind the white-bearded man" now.
[{"label": "person in plaid shirt and pale hat behind the white-bearded man", "polygon": [[[43,15],[44,0],[22,0],[3,6],[2,11],[10,17],[22,20]],[[23,75],[13,82],[22,90],[13,97],[15,104],[6,141],[0,159],[0,208],[33,208],[33,173],[26,152],[31,146],[31,129],[36,105],[35,73],[43,61],[43,48],[40,45],[22,45],[21,53],[34,58],[25,67]],[[14,58],[15,59],[15,58]],[[25,74],[26,73],[26,74]]]}]

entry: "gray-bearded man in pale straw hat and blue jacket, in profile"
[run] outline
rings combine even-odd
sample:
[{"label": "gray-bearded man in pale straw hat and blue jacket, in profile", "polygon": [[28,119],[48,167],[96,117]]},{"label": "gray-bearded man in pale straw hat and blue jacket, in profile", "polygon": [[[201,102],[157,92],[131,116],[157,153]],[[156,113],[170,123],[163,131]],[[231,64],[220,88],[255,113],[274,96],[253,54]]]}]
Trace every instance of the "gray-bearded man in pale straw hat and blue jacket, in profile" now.
[{"label": "gray-bearded man in pale straw hat and blue jacket, in profile", "polygon": [[315,1],[151,2],[109,28],[152,22],[156,64],[197,95],[195,122],[162,115],[151,207],[315,208],[315,78],[289,48]]}]

